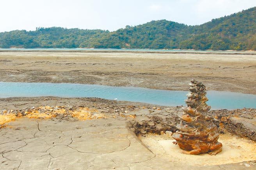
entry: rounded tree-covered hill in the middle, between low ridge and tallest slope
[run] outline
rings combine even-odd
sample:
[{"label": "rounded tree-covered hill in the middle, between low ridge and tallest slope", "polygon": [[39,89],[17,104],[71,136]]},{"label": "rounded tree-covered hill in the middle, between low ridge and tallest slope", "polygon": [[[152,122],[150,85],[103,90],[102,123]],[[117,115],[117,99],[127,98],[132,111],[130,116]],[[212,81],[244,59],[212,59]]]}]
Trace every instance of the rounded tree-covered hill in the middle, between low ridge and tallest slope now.
[{"label": "rounded tree-covered hill in the middle, between low ridge and tallest slope", "polygon": [[186,25],[172,21],[151,21],[104,34],[92,45],[108,48],[178,48],[186,28]]}]

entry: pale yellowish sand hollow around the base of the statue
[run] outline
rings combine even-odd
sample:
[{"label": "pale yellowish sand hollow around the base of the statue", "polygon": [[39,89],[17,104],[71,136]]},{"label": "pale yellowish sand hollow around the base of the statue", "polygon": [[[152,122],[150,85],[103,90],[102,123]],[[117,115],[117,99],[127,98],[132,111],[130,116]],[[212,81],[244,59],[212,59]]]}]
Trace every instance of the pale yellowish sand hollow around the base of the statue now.
[{"label": "pale yellowish sand hollow around the base of the statue", "polygon": [[228,134],[220,135],[219,142],[223,144],[222,151],[215,156],[209,154],[183,154],[175,141],[168,135],[147,135],[140,140],[157,156],[177,164],[186,163],[190,166],[222,165],[256,160],[256,143]]}]

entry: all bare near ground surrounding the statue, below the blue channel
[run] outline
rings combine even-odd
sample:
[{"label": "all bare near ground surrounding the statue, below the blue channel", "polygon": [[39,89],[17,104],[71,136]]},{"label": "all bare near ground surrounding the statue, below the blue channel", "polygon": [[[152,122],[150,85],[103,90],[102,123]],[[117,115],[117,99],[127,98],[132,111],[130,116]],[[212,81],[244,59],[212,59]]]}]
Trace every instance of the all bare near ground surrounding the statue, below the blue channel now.
[{"label": "all bare near ground surrounding the statue, below the blue channel", "polygon": [[167,135],[181,107],[51,96],[2,98],[0,107],[0,118],[11,118],[0,128],[1,169],[256,168],[256,143],[224,126],[225,116],[253,121],[256,109],[212,110],[223,151],[192,156]]}]

